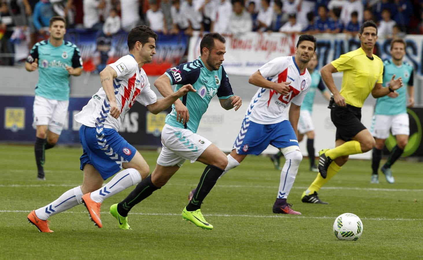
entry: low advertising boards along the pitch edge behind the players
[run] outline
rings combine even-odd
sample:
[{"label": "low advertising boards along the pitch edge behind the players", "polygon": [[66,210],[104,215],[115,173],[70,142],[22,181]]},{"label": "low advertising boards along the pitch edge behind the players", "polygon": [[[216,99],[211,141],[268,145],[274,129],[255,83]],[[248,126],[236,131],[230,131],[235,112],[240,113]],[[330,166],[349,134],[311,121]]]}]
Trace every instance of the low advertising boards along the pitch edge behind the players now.
[{"label": "low advertising boards along the pitch edge behind the players", "polygon": [[[35,139],[35,129],[33,129],[33,96],[0,96],[0,121],[3,127],[0,129],[1,142],[31,143]],[[89,98],[71,98],[69,101],[69,112],[63,132],[59,139],[59,144],[78,145],[78,130],[80,124],[74,120],[73,115],[80,112],[87,104]],[[371,105],[365,105],[363,111],[371,111]],[[164,126],[165,117],[170,112],[161,112],[153,115],[143,105],[135,102],[134,106],[125,116],[119,132],[131,144],[144,148],[157,148],[161,146],[160,133]],[[422,126],[423,108],[408,109],[410,117],[410,141],[404,151],[404,156],[423,157]],[[330,110],[325,104],[316,104],[313,114],[319,115],[318,120],[313,118],[315,126],[316,152],[321,148],[333,148],[335,144],[335,126],[330,120]],[[212,100],[209,109],[203,115],[198,128],[198,134],[206,137],[222,151],[230,152],[239,135],[244,111],[225,110],[220,106],[220,102]],[[363,113],[362,122],[370,129],[372,113]],[[300,142],[302,153],[306,154],[305,142]],[[395,146],[395,138],[390,137],[387,141],[387,148]],[[275,153],[277,149],[269,146],[265,153]],[[317,156],[317,153],[316,153]],[[352,158],[370,159],[371,151],[368,153],[353,155]]]}]

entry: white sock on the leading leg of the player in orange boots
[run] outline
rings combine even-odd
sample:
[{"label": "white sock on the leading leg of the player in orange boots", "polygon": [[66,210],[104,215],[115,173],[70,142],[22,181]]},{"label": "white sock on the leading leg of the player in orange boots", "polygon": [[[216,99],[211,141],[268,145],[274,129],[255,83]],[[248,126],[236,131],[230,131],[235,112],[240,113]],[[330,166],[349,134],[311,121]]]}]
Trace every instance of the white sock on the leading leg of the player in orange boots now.
[{"label": "white sock on the leading leg of the player in orange boots", "polygon": [[109,183],[100,189],[91,192],[91,200],[102,203],[103,200],[111,197],[124,189],[135,185],[141,181],[140,173],[134,168],[128,168],[118,172]]}]

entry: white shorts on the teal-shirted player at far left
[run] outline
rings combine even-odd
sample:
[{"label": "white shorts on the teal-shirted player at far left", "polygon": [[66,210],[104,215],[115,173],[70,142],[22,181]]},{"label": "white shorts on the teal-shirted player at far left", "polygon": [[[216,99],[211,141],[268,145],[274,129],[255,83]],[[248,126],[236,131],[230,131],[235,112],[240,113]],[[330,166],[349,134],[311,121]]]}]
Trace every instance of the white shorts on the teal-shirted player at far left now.
[{"label": "white shorts on the teal-shirted player at far left", "polygon": [[46,99],[41,96],[35,96],[33,106],[34,121],[32,126],[47,126],[49,131],[60,135],[63,130],[63,124],[68,118],[69,100]]}]

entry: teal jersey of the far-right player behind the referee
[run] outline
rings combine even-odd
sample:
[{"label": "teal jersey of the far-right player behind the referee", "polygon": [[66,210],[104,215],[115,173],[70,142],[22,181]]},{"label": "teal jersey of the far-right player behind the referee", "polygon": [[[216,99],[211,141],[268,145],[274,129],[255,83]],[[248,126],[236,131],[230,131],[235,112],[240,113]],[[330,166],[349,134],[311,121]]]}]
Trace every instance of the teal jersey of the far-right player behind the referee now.
[{"label": "teal jersey of the far-right player behind the referee", "polygon": [[376,115],[399,115],[407,113],[407,87],[413,86],[413,66],[406,62],[403,62],[401,66],[396,66],[392,60],[385,60],[383,66],[384,87],[388,87],[394,74],[395,78],[402,77],[404,86],[396,90],[399,94],[396,98],[383,96],[376,99],[374,113]]}]

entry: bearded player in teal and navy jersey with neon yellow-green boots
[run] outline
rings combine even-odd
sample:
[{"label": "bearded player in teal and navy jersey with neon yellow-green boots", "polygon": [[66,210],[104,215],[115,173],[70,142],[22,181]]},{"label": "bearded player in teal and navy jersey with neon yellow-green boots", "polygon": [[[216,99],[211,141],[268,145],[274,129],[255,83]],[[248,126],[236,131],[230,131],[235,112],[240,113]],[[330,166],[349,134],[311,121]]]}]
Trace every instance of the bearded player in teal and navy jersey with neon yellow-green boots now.
[{"label": "bearded player in teal and navy jersey with neon yellow-green boots", "polygon": [[176,85],[177,91],[190,84],[196,92],[187,93],[178,99],[166,117],[162,130],[163,148],[154,171],[124,200],[110,208],[110,213],[118,219],[122,229],[129,228],[127,215],[131,208],[164,186],[186,159],[192,163],[200,161],[207,166],[192,200],[182,211],[182,217],[203,229],[213,228],[201,213],[201,203],[222,175],[228,159],[216,145],[196,134],[196,131],[213,96],[219,97],[220,105],[226,110],[233,107],[238,110],[242,101],[239,96],[233,96],[231,84],[222,66],[226,52],[225,38],[219,33],[205,34],[200,50],[201,56],[198,59],[168,69],[154,82],[165,97],[173,93],[171,85]]}]

